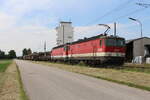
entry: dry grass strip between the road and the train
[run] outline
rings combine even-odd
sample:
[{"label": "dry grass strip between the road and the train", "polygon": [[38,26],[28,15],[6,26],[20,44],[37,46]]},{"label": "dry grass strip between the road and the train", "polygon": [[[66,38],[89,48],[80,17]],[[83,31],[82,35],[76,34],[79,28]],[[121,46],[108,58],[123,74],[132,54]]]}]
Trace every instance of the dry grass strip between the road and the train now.
[{"label": "dry grass strip between the road and the train", "polygon": [[36,63],[150,91],[150,65],[141,67],[141,65],[125,64],[121,68],[93,68],[49,62]]}]

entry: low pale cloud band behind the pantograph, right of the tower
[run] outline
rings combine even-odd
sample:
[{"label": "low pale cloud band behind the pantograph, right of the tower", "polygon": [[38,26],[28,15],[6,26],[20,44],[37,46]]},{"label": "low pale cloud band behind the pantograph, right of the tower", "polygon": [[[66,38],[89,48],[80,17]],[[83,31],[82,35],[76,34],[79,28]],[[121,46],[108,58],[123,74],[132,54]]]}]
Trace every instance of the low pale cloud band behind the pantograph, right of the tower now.
[{"label": "low pale cloud band behind the pantograph, right of the tower", "polygon": [[[114,35],[114,23],[107,24],[111,27],[108,35]],[[138,38],[140,34],[138,34],[139,28],[135,23],[117,23],[117,35],[120,37],[124,37],[127,40]],[[132,28],[131,28],[132,27]],[[93,26],[78,26],[74,28],[75,40],[84,38],[84,37],[92,37],[105,32],[107,28],[103,26],[93,25]],[[138,34],[138,35],[137,35]]]}]

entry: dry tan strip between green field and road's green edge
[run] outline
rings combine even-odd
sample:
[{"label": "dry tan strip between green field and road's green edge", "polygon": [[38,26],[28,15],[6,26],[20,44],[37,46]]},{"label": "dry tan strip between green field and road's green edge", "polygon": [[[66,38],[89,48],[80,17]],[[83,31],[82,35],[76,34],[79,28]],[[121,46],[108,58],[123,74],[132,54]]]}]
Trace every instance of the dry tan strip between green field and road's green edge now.
[{"label": "dry tan strip between green field and road's green edge", "polygon": [[4,72],[4,83],[0,90],[0,100],[20,100],[20,84],[15,62]]}]

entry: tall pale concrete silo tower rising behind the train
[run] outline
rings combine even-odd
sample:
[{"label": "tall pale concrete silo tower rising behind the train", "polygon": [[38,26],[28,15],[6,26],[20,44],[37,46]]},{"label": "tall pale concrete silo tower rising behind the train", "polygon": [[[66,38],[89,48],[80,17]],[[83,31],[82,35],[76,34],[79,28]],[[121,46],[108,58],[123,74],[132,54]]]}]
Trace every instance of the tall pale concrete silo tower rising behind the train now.
[{"label": "tall pale concrete silo tower rising behind the train", "polygon": [[60,25],[56,27],[56,31],[57,45],[63,45],[69,42],[73,42],[72,22],[60,22]]}]

